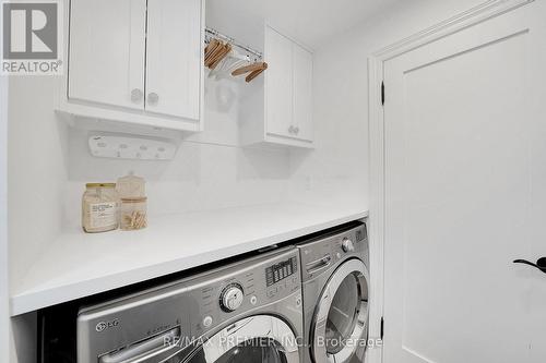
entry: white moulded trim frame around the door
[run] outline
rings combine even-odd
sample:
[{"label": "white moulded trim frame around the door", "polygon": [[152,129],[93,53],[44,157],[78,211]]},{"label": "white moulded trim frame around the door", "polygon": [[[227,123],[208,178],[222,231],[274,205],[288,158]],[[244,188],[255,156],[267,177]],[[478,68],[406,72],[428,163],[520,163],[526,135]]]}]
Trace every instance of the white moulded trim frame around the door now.
[{"label": "white moulded trim frame around the door", "polygon": [[[442,39],[470,26],[483,23],[491,17],[534,2],[535,0],[488,0],[451,19],[438,23],[420,33],[387,46],[368,57],[368,120],[370,144],[370,210],[369,210],[369,243],[370,270],[373,279],[370,281],[370,337],[381,336],[381,318],[383,317],[384,298],[384,108],[382,105],[382,82],[384,80],[384,63],[422,46]],[[388,85],[387,85],[388,86]],[[388,95],[385,102],[389,102]],[[387,330],[388,317],[385,319]],[[382,348],[370,349],[368,362],[382,362]]]}]

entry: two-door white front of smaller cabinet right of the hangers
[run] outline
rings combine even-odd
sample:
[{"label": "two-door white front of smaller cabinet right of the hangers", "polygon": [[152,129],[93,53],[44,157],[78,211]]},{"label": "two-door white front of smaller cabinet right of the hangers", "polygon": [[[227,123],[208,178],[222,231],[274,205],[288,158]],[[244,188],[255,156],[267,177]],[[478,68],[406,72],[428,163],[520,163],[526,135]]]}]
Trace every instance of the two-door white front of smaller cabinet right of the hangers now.
[{"label": "two-door white front of smaller cabinet right of the hangers", "polygon": [[265,141],[312,147],[312,53],[265,28]]}]

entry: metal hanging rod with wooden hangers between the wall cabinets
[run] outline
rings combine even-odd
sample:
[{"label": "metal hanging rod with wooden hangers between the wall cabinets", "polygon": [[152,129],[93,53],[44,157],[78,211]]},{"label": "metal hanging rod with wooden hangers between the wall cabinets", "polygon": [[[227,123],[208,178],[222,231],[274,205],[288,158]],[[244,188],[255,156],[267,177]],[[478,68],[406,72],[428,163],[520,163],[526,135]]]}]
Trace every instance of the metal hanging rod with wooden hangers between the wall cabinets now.
[{"label": "metal hanging rod with wooden hangers between the wall cabinets", "polygon": [[268,69],[263,55],[249,46],[218,31],[205,29],[205,66],[211,70],[209,77],[239,76],[247,74],[251,82]]}]

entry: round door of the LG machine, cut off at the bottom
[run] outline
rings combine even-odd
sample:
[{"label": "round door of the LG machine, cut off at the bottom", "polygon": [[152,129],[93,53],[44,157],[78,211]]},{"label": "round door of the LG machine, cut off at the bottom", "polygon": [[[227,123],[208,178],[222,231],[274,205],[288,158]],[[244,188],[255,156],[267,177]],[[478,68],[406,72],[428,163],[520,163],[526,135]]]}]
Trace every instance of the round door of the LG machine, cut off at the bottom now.
[{"label": "round door of the LG machine, cut off at the bottom", "polygon": [[299,363],[298,340],[284,320],[257,315],[218,331],[183,362]]}]

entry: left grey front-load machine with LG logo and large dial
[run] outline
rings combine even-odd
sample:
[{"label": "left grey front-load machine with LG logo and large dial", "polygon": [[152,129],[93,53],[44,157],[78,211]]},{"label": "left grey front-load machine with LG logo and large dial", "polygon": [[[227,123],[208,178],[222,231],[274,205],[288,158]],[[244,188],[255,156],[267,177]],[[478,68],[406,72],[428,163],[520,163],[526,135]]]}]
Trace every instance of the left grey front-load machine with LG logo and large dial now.
[{"label": "left grey front-load machine with LG logo and large dial", "polygon": [[84,307],[79,363],[299,363],[299,253],[270,252]]}]

